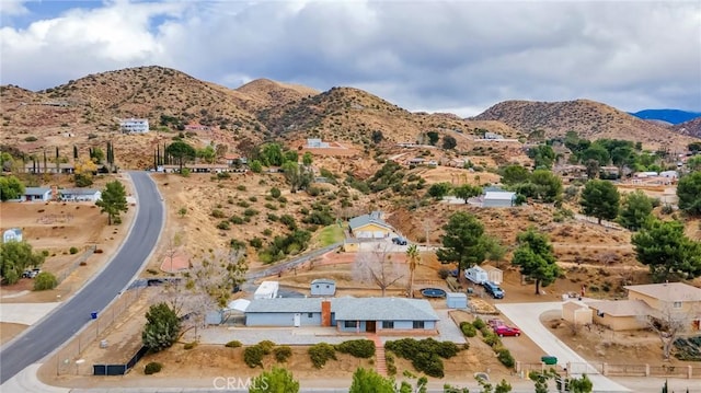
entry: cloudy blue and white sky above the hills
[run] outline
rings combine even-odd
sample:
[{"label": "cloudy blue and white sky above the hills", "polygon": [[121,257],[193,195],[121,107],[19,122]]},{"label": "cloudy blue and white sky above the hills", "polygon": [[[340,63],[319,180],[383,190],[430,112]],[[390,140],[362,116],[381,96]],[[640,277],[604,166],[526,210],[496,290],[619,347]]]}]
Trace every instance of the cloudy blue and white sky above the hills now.
[{"label": "cloudy blue and white sky above the hills", "polygon": [[701,112],[701,1],[0,0],[0,83],[163,66],[366,90],[473,116],[506,100]]}]

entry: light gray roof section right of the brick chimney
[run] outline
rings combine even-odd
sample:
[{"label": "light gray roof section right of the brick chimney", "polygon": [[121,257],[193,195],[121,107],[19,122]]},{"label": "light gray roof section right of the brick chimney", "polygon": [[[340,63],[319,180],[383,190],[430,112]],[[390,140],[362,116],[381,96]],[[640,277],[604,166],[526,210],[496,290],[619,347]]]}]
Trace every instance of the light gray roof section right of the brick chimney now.
[{"label": "light gray roof section right of the brick chimney", "polygon": [[331,303],[337,321],[438,321],[428,300],[337,298]]}]

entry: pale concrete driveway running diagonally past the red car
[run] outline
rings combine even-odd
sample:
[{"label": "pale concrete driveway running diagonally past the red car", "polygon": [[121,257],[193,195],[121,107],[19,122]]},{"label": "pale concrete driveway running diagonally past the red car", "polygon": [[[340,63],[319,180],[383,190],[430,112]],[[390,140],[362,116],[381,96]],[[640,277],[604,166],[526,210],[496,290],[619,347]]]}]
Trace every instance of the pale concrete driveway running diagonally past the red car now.
[{"label": "pale concrete driveway running diagonally past the red car", "polygon": [[562,310],[561,302],[548,303],[497,303],[496,308],[504,313],[524,334],[536,343],[543,355],[558,358],[558,365],[566,367],[572,363],[570,370],[573,374],[585,373],[594,383],[595,392],[630,392],[631,390],[601,375],[599,371],[589,365],[577,352],[567,347],[540,322],[540,315],[551,310]]}]

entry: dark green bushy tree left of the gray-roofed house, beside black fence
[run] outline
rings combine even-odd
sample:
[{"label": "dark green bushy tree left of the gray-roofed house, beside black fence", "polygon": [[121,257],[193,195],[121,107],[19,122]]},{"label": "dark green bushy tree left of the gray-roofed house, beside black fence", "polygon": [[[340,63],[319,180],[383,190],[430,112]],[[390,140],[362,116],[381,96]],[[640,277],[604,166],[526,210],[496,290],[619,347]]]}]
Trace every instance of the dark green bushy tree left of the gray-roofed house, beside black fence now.
[{"label": "dark green bushy tree left of the gray-roofed house, beside black fence", "polygon": [[181,321],[169,304],[160,302],[149,308],[146,325],[141,332],[141,342],[151,352],[170,348],[180,335]]}]

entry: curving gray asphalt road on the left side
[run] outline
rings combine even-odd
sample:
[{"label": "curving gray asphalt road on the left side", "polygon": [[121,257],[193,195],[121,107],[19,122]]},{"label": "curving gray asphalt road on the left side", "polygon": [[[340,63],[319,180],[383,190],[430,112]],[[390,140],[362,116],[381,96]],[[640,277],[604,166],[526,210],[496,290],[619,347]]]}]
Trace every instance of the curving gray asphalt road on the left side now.
[{"label": "curving gray asphalt road on the left side", "polygon": [[138,213],[125,243],[82,290],[3,347],[0,352],[0,383],[37,362],[80,331],[90,322],[90,313],[104,309],[126,288],[149,257],[163,227],[163,203],[146,172],[130,172],[130,175],[138,196]]}]

